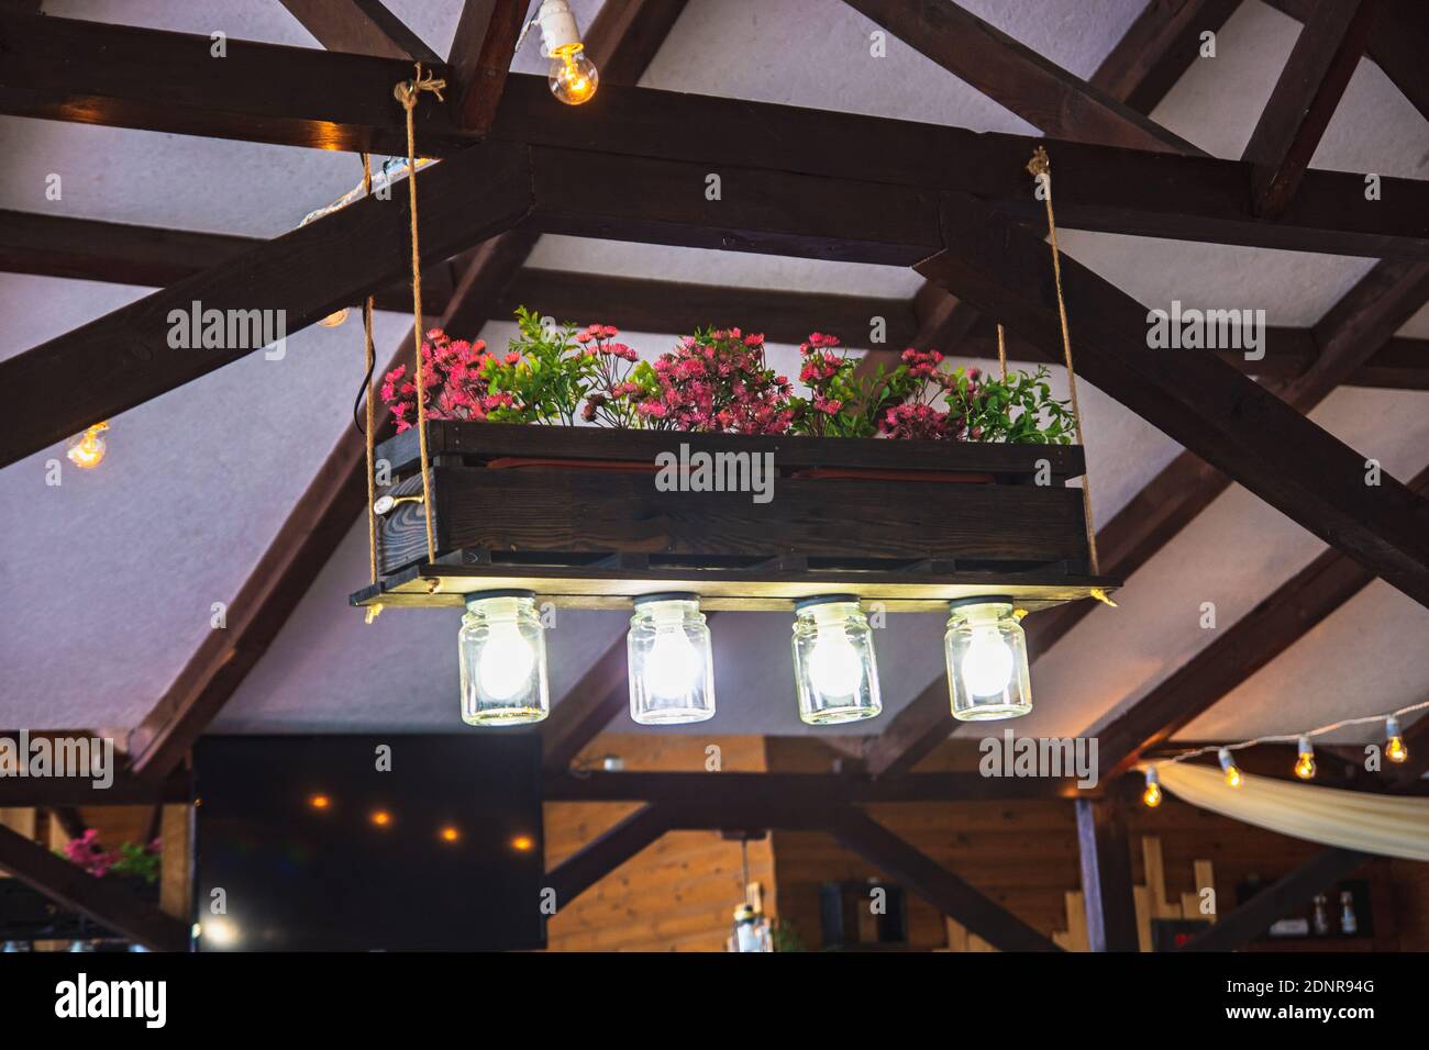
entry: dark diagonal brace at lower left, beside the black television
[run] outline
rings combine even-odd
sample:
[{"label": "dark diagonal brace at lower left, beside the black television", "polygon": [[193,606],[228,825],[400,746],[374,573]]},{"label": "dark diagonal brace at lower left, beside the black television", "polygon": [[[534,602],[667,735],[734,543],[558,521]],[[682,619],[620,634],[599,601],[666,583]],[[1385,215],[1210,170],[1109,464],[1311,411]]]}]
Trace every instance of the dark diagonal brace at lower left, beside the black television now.
[{"label": "dark diagonal brace at lower left, beside the black television", "polygon": [[153,951],[186,951],[189,927],[114,879],[96,879],[23,834],[0,827],[0,869],[46,897]]}]

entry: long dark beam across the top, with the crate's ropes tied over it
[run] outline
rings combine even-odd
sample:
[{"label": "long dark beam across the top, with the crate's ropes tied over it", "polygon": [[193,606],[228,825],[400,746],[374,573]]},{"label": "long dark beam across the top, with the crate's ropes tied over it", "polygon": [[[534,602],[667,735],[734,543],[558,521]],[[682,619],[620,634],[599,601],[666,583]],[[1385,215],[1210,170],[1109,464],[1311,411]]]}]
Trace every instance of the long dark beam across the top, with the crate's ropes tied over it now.
[{"label": "long dark beam across the top, with the crate's ropes tied over it", "polygon": [[[23,47],[4,46],[20,40]],[[206,41],[126,26],[0,16],[0,111],[323,149],[406,150],[392,86],[410,77],[407,63],[249,41],[230,41],[229,57],[214,63]],[[154,87],[157,80],[163,90]],[[829,179],[820,146],[859,141],[862,149],[840,157],[837,179],[967,191],[1009,216],[1040,220],[1025,171],[1040,140],[1026,136],[610,83],[584,106],[553,106],[544,77],[512,76],[503,97],[493,139],[616,154],[617,161],[623,156],[684,161],[690,174],[699,170],[702,191],[704,176],[723,170],[732,157],[746,159],[750,170]],[[422,109],[417,134],[423,153],[437,157],[473,141],[444,106]],[[1386,177],[1382,200],[1366,201],[1360,176],[1309,171],[1286,214],[1266,223],[1250,213],[1248,164],[1083,143],[1049,143],[1049,149],[1059,163],[1059,217],[1069,227],[1429,257],[1425,183]],[[567,163],[579,169],[582,159]],[[630,169],[623,177],[630,183],[640,174]],[[746,191],[757,193],[757,186]],[[726,189],[722,204],[730,200]]]}]

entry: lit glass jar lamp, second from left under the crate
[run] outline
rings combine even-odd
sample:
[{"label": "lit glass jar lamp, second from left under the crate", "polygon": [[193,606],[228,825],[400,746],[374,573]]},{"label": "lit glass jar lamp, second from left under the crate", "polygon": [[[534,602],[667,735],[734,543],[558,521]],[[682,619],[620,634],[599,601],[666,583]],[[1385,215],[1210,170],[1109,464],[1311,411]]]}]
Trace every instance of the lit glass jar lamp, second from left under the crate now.
[{"label": "lit glass jar lamp, second from left under the crate", "polygon": [[630,717],[637,723],[670,726],[714,717],[710,629],[693,594],[636,599],[626,657]]}]

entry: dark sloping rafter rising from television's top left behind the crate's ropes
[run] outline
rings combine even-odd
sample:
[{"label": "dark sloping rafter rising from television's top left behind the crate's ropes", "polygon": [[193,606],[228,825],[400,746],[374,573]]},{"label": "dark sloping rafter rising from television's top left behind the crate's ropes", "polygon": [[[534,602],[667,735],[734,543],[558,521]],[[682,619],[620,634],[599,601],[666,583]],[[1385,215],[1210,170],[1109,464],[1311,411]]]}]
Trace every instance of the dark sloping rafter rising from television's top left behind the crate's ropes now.
[{"label": "dark sloping rafter rising from television's top left behind the crate's ropes", "polygon": [[[619,66],[624,41],[602,30],[602,17],[596,16],[590,30],[599,40],[599,47],[592,46],[592,57],[597,64],[612,61]],[[643,53],[652,43],[647,34],[637,34],[633,46]],[[486,180],[479,176],[474,184],[484,186]],[[474,336],[480,331],[483,321],[492,316],[492,303],[500,299],[534,246],[533,231],[512,230],[470,253],[462,263],[462,277],[439,324],[454,333]],[[409,336],[392,356],[387,370],[410,361],[414,351]],[[389,427],[390,413],[384,406],[374,407],[379,430]],[[366,506],[364,474],[363,443],[356,431],[346,430],[239,596],[229,604],[229,629],[210,633],[133,733],[130,753],[144,777],[159,780],[180,766],[193,741],[267,651]],[[240,610],[237,621],[233,610]]]}]

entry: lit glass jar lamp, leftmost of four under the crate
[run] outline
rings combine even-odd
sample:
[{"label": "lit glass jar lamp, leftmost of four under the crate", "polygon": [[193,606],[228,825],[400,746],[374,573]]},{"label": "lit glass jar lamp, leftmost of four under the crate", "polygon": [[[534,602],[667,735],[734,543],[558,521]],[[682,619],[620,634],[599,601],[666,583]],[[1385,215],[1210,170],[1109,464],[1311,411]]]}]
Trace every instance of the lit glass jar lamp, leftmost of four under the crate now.
[{"label": "lit glass jar lamp, leftmost of four under the crate", "polygon": [[472,594],[459,643],[462,721],[523,726],[550,714],[546,631],[534,594],[523,590]]}]

